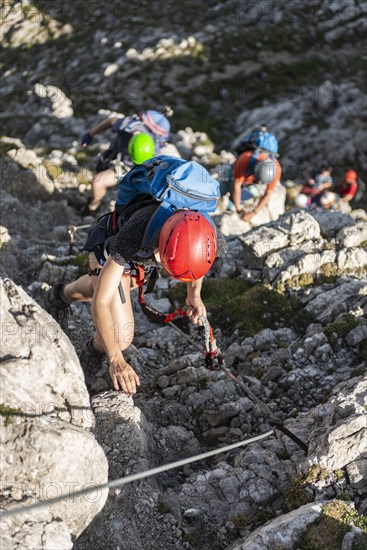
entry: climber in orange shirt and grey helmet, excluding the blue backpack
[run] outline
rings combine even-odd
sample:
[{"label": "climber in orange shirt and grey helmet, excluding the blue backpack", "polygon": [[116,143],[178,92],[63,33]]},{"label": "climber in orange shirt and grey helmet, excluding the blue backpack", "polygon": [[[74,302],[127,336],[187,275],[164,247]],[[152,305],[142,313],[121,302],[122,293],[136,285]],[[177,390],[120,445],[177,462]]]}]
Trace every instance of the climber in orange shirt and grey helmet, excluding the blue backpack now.
[{"label": "climber in orange shirt and grey helmet, excluding the blue backpack", "polygon": [[[253,151],[245,151],[234,163],[233,172],[232,200],[241,219],[249,222],[259,210],[269,203],[270,196],[280,180],[282,168],[278,160],[271,154],[260,153],[255,156]],[[248,198],[252,198],[246,188],[254,183],[265,184],[265,194],[252,212],[244,212],[241,203]]]}]

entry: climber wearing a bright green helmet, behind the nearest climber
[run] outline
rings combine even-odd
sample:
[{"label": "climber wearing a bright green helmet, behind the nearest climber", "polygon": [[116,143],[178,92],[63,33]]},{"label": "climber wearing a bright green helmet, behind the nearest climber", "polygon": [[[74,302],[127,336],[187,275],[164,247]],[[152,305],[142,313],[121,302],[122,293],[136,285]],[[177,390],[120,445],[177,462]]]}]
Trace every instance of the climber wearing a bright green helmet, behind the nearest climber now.
[{"label": "climber wearing a bright green helmet, behind the nearest climber", "polygon": [[[107,189],[114,187],[127,170],[160,154],[160,149],[169,137],[170,123],[167,117],[171,114],[172,110],[165,107],[162,113],[149,109],[132,116],[112,116],[83,134],[81,145],[84,148],[100,132],[111,129],[117,134],[109,148],[99,156],[92,181],[92,194],[82,212],[84,215],[95,215],[99,211]],[[141,136],[140,143],[131,144],[136,135]]]}]

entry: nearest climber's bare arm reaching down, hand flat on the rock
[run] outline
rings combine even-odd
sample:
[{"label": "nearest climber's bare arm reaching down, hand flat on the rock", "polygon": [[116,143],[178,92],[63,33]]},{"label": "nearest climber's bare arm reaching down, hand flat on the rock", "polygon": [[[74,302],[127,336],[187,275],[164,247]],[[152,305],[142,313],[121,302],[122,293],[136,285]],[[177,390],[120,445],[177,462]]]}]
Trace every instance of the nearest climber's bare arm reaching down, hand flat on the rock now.
[{"label": "nearest climber's bare arm reaching down, hand flat on the rock", "polygon": [[[92,315],[110,362],[110,375],[115,390],[118,390],[120,385],[126,394],[133,395],[136,392],[136,386],[140,383],[139,377],[122,355],[118,338],[115,337],[111,311],[112,301],[118,291],[123,272],[124,268],[111,257],[107,259],[94,291]],[[122,318],[119,322],[124,325],[126,320]]]}]

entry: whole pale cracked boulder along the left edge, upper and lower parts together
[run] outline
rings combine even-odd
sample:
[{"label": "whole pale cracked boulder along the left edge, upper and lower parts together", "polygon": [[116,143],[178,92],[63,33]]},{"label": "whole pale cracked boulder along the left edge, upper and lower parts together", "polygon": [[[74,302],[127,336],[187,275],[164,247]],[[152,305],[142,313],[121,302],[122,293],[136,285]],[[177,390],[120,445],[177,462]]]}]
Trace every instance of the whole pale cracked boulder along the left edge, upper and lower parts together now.
[{"label": "whole pale cracked boulder along the left edge, upper and lower parts together", "polygon": [[[69,339],[20,287],[9,279],[0,283],[0,469],[7,509],[105,483],[107,461],[91,433],[94,415]],[[71,495],[7,519],[4,548],[71,548],[71,537],[87,527],[106,496]]]}]

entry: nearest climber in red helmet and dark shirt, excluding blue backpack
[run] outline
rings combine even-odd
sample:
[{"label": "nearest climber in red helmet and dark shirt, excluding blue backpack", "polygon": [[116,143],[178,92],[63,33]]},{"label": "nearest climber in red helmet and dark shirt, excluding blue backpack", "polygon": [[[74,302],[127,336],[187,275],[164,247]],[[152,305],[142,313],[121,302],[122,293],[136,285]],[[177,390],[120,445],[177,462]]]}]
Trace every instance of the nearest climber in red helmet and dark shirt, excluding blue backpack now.
[{"label": "nearest climber in red helmet and dark shirt, excluding blue backpack", "polygon": [[147,228],[160,206],[160,201],[145,195],[129,203],[123,214],[115,210],[100,218],[84,246],[89,252],[88,274],[50,291],[49,302],[56,308],[92,302],[93,348],[107,353],[113,386],[128,395],[135,394],[139,385],[138,375],[123,357],[134,336],[130,290],[144,280],[144,273],[163,267],[170,277],[186,284],[187,316],[201,324],[199,318],[206,316],[203,277],[226,250],[225,239],[211,218],[188,209],[169,213],[154,233],[152,246],[145,247]]}]

